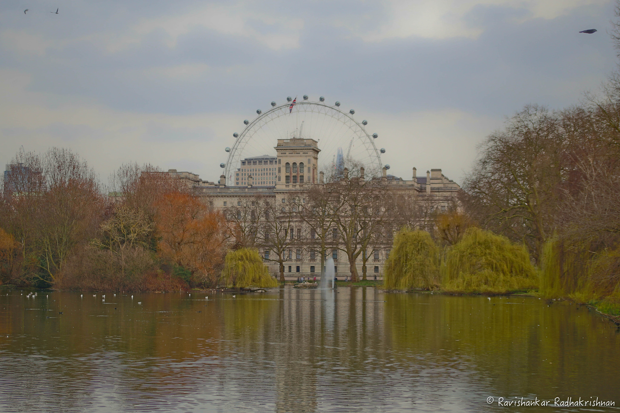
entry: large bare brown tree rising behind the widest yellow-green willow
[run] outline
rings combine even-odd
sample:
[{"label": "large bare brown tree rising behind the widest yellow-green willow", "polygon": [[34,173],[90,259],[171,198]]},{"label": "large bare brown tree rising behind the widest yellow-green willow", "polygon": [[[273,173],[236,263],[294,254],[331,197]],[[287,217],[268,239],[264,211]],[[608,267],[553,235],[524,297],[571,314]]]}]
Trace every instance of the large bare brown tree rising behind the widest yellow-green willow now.
[{"label": "large bare brown tree rising behind the widest yellow-green willow", "polygon": [[566,173],[557,116],[526,106],[480,147],[464,185],[467,211],[484,227],[525,242],[538,261],[552,235]]}]

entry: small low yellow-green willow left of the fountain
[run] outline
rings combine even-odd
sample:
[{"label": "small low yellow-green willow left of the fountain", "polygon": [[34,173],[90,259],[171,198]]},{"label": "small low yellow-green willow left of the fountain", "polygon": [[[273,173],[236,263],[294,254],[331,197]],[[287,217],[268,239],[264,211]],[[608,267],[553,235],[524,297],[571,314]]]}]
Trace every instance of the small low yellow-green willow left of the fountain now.
[{"label": "small low yellow-green willow left of the fountain", "polygon": [[237,288],[278,286],[277,280],[269,275],[269,270],[263,265],[259,250],[255,248],[228,251],[222,276],[226,285]]}]

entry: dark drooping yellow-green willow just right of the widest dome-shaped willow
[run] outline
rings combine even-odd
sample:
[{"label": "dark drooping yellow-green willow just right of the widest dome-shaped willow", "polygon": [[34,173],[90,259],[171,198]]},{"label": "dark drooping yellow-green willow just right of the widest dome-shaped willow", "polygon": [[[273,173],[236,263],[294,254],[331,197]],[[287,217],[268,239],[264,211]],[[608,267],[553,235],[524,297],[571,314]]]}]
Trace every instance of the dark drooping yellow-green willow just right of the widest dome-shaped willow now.
[{"label": "dark drooping yellow-green willow just right of the widest dome-shaped willow", "polygon": [[587,243],[551,238],[542,246],[539,292],[546,298],[568,297],[577,292],[579,277],[591,253]]}]

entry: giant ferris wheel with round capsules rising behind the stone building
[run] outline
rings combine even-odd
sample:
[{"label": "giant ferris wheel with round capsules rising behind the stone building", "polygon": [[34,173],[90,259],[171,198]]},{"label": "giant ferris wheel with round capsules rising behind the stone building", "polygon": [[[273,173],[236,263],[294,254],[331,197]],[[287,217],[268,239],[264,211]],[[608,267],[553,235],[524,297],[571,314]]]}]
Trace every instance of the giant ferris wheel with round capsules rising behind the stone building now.
[{"label": "giant ferris wheel with round capsules rising behind the stone building", "polygon": [[277,140],[291,137],[318,142],[319,170],[328,175],[339,162],[351,159],[365,167],[367,176],[381,176],[381,154],[385,149],[377,149],[374,144],[378,134],[366,132],[368,121],[356,121],[355,110],[341,110],[340,102],[328,105],[324,97],[318,102],[309,100],[308,95],[301,99],[287,97],[286,103],[272,102],[269,110],[259,109],[256,113],[254,120],[243,121],[241,133],[232,134],[236,140],[232,147],[226,147],[228,160],[219,164],[229,185],[234,185],[232,176],[242,160],[260,155],[275,157]]}]

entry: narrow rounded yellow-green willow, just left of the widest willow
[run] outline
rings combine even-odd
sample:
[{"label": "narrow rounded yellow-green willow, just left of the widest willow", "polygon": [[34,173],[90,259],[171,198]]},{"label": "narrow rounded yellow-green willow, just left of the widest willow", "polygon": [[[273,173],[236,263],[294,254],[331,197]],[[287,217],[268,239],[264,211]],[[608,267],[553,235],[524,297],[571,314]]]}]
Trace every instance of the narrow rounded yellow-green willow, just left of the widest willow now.
[{"label": "narrow rounded yellow-green willow, just left of the widest willow", "polygon": [[438,284],[438,248],[425,231],[400,230],[386,261],[387,289],[429,289]]}]

